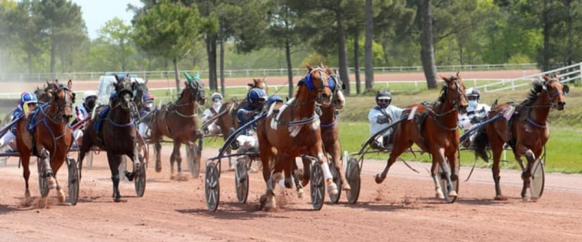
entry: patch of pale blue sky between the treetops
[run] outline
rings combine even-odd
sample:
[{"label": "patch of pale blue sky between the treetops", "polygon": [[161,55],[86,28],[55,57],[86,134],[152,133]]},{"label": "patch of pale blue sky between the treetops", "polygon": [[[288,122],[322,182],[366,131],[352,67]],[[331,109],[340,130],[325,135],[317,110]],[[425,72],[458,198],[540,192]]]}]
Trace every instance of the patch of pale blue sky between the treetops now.
[{"label": "patch of pale blue sky between the treetops", "polygon": [[133,13],[127,12],[127,4],[143,6],[140,0],[71,0],[81,6],[83,19],[87,26],[89,38],[97,38],[97,31],[105,25],[108,20],[119,17],[130,24]]}]

